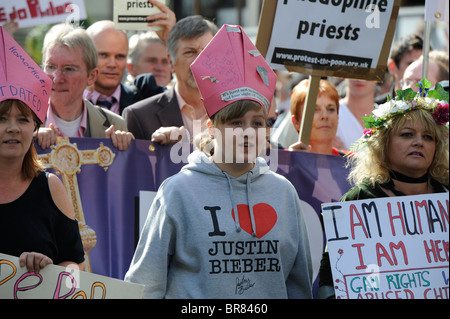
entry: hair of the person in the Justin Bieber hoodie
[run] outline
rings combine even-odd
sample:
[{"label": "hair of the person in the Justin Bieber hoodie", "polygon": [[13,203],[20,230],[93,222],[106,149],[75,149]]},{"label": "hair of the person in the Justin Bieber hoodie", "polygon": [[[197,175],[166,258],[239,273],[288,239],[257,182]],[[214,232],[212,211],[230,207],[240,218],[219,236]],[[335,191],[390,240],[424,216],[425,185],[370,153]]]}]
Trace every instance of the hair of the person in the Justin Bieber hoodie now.
[{"label": "hair of the person in the Justin Bieber hoodie", "polygon": [[[214,126],[217,126],[218,124],[224,124],[232,119],[240,118],[248,111],[258,110],[260,108],[262,108],[261,104],[253,100],[239,100],[228,104],[219,112],[211,116],[211,121]],[[267,120],[266,112],[264,112],[264,116]],[[212,156],[214,154],[214,140],[210,136],[208,130],[195,136],[193,144],[197,150],[205,153],[207,156]]]}]

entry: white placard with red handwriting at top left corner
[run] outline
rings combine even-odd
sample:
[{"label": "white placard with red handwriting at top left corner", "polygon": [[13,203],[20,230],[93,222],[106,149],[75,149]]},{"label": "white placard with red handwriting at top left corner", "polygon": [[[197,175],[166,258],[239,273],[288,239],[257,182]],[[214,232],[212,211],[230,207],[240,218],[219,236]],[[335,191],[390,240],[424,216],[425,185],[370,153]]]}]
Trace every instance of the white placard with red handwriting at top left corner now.
[{"label": "white placard with red handwriting at top left corner", "polygon": [[0,25],[17,22],[19,28],[86,19],[83,0],[14,0],[0,3]]}]

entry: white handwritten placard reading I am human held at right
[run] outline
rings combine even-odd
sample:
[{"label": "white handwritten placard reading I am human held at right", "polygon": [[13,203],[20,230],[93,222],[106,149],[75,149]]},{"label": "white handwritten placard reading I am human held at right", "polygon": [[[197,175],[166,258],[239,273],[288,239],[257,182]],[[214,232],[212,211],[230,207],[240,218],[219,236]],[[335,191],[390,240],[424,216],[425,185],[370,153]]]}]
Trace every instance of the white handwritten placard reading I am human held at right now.
[{"label": "white handwritten placard reading I am human held at right", "polygon": [[336,298],[448,299],[448,193],[322,204]]}]

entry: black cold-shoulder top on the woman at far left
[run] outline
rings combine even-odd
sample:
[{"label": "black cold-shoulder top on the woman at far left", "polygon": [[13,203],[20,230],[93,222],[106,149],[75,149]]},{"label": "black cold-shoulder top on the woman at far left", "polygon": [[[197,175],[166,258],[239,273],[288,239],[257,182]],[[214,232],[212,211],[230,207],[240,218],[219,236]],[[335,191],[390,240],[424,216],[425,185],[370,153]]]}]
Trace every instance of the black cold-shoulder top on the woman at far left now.
[{"label": "black cold-shoulder top on the woman at far left", "polygon": [[54,264],[84,261],[78,222],[54,203],[46,172],[18,199],[0,204],[0,253],[19,257],[23,252],[44,254]]}]

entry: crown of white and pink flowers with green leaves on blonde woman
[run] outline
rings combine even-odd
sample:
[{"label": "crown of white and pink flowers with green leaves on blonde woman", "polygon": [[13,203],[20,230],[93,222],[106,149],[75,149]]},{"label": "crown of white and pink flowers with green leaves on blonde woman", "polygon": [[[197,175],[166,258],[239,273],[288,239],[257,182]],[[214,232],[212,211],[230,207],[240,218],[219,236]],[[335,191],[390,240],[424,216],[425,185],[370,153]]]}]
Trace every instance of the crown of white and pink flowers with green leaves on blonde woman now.
[{"label": "crown of white and pink flowers with green leaves on blonde woman", "polygon": [[414,92],[411,88],[397,90],[397,97],[395,100],[392,100],[388,96],[388,101],[386,103],[375,106],[375,109],[370,116],[362,118],[365,123],[363,136],[352,144],[350,150],[356,152],[360,149],[361,146],[375,134],[377,129],[387,125],[387,121],[390,118],[417,108],[430,111],[436,124],[448,125],[449,94],[441,84],[436,83],[433,90],[431,90],[431,85],[431,82],[424,78],[416,84],[416,87],[419,87],[419,92]]}]

